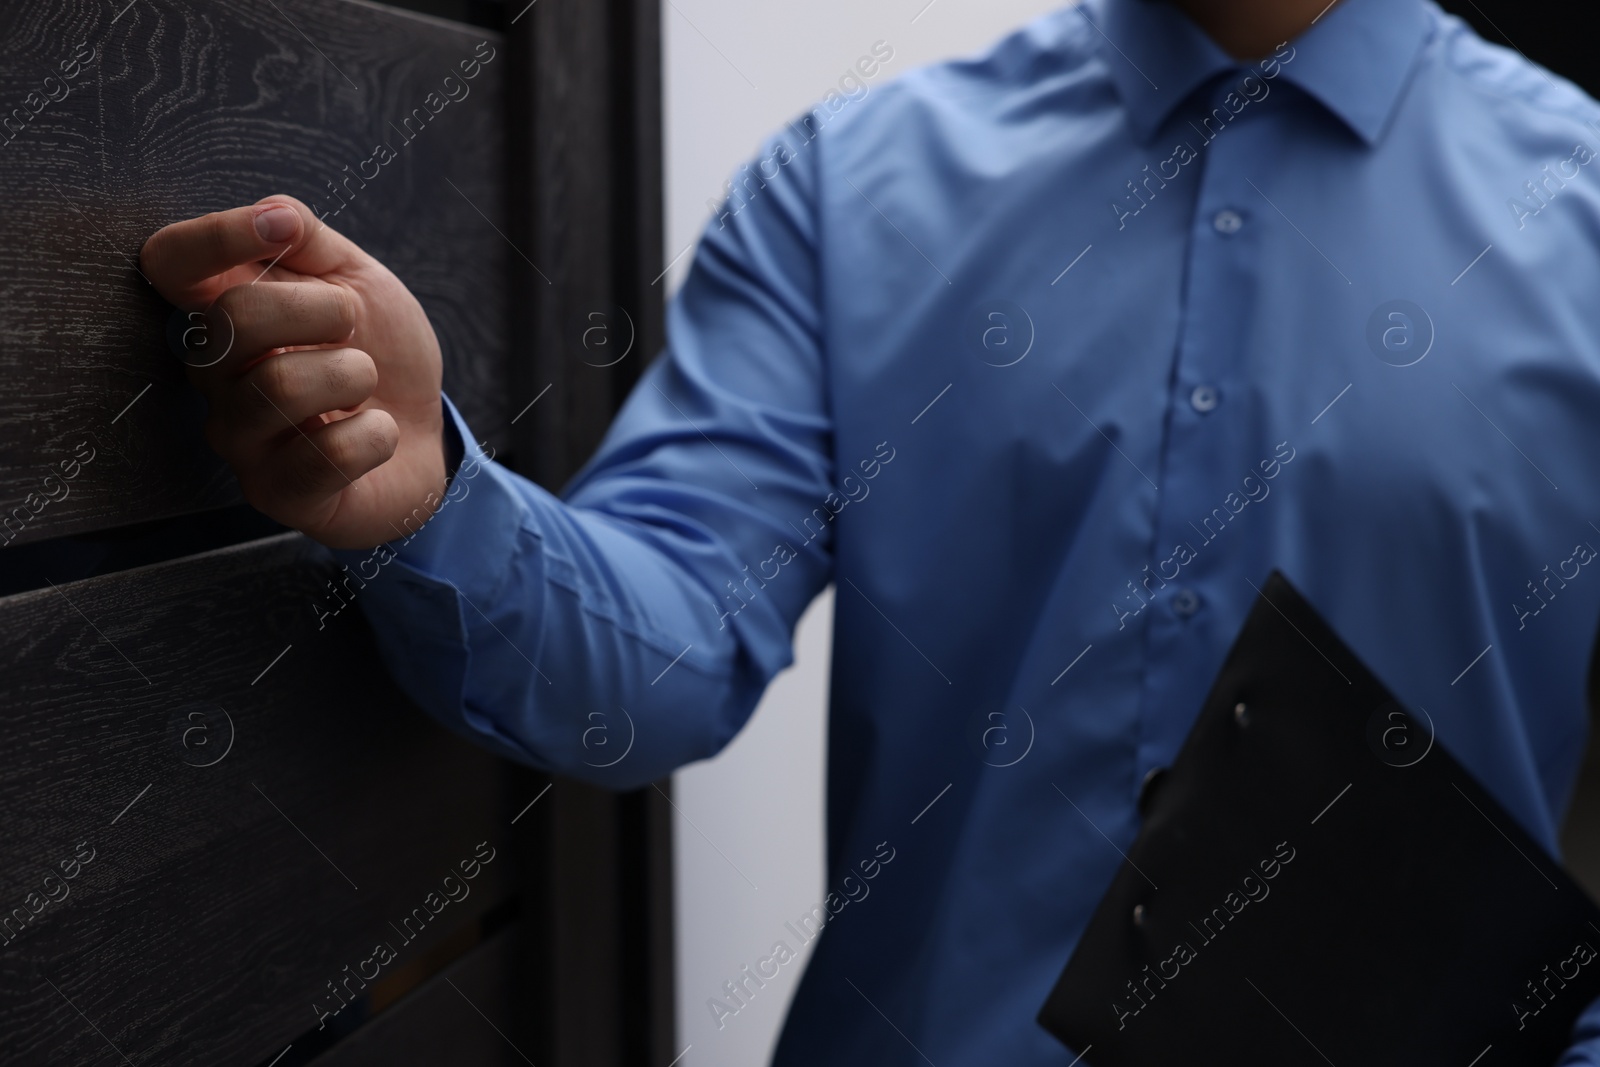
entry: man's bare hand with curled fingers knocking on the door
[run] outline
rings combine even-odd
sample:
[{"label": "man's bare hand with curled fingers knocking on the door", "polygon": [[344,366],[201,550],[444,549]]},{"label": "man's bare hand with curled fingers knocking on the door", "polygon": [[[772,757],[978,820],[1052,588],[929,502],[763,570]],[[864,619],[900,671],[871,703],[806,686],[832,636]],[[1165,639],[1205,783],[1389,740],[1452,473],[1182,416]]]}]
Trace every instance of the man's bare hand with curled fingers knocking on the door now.
[{"label": "man's bare hand with curled fingers knocking on the door", "polygon": [[166,226],[139,261],[162,296],[206,312],[208,344],[232,338],[189,378],[211,406],[206,440],[258,510],[334,549],[392,541],[435,510],[438,339],[381,262],[293,197]]}]

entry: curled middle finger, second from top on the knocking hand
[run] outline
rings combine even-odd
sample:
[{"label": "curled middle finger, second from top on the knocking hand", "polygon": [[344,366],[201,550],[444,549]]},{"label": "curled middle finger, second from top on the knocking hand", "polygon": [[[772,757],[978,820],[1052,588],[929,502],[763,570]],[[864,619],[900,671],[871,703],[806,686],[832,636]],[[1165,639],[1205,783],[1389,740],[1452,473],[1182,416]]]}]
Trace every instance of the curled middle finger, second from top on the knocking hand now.
[{"label": "curled middle finger, second from top on the knocking hand", "polygon": [[266,352],[349,339],[355,318],[355,298],[326,282],[235,285],[206,309],[203,344],[186,334],[182,358],[210,395]]}]

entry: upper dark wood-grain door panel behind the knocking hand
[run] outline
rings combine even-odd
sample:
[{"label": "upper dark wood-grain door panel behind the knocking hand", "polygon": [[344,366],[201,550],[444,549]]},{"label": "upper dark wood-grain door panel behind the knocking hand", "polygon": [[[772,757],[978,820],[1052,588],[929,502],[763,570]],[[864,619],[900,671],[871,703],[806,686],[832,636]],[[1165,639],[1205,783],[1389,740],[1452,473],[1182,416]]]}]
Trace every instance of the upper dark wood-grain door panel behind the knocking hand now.
[{"label": "upper dark wood-grain door panel behind the knocking hand", "polygon": [[[136,256],[166,222],[275,192],[344,205],[330,226],[416,293],[446,392],[504,448],[515,253],[496,232],[499,35],[357,0],[0,0],[0,515],[59,498],[35,496],[14,542],[238,499]],[[461,61],[486,54],[459,80]],[[405,126],[414,109],[424,118]],[[395,158],[363,165],[381,142]],[[46,486],[83,440],[96,459],[69,493]]]}]

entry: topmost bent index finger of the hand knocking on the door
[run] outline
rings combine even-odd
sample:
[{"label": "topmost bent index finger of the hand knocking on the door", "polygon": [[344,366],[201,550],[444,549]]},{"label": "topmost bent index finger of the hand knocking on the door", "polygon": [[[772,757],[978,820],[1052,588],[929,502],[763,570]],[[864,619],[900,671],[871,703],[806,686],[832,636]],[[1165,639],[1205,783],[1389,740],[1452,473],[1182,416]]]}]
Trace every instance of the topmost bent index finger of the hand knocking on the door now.
[{"label": "topmost bent index finger of the hand knocking on the door", "polygon": [[[323,226],[293,197],[267,197],[246,208],[214,211],[157,230],[139,250],[150,283],[179,307],[205,307],[238,280],[246,264],[280,262],[302,274],[326,274],[355,246]],[[248,278],[245,278],[248,280]]]}]

